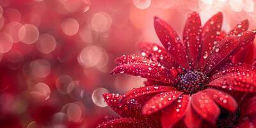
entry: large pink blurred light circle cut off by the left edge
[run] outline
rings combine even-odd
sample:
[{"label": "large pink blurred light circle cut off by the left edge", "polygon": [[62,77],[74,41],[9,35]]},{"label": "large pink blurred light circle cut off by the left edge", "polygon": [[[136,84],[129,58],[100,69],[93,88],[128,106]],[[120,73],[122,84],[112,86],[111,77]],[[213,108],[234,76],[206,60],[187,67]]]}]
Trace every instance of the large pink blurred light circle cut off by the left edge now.
[{"label": "large pink blurred light circle cut off by the left edge", "polygon": [[8,33],[0,32],[0,53],[6,53],[12,49],[12,37]]}]

